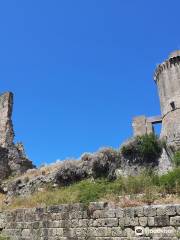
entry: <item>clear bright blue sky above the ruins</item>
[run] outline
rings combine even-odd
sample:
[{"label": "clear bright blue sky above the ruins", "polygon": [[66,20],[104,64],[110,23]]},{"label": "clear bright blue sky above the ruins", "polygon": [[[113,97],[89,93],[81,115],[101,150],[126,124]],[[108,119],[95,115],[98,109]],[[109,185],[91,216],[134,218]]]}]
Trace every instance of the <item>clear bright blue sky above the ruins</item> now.
[{"label": "clear bright blue sky above the ruins", "polygon": [[160,113],[153,72],[180,48],[179,0],[0,2],[0,91],[35,164],[119,147]]}]

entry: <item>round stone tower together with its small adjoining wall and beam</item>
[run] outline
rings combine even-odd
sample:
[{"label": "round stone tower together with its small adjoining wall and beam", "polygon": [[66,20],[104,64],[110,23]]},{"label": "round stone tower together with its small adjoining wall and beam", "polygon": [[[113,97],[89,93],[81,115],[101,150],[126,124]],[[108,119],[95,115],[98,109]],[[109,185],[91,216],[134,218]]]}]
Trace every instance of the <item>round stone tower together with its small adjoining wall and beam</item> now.
[{"label": "round stone tower together with its small adjoining wall and beam", "polygon": [[161,116],[138,116],[133,119],[134,136],[154,132],[153,125],[162,123],[160,137],[173,150],[180,147],[180,50],[157,66],[154,80],[158,87]]}]

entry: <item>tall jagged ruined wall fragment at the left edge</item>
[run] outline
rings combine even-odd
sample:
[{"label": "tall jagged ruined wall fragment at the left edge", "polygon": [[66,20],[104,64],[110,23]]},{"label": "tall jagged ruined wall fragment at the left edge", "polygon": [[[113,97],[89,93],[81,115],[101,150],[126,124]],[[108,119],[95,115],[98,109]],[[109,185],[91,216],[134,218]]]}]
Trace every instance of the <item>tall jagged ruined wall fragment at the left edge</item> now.
[{"label": "tall jagged ruined wall fragment at the left edge", "polygon": [[34,168],[21,143],[14,143],[13,94],[0,95],[0,180]]}]

